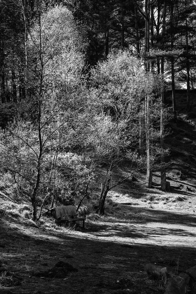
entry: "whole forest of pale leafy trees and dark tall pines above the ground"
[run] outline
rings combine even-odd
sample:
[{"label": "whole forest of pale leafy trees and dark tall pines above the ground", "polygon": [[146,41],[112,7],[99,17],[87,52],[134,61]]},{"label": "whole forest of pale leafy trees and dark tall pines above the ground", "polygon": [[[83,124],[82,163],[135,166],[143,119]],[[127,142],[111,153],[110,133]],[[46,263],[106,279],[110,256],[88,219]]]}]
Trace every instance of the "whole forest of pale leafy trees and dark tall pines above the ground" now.
[{"label": "whole forest of pale leafy trees and dark tall pines above the ground", "polygon": [[34,221],[96,184],[103,215],[136,171],[148,188],[159,171],[167,190],[164,138],[176,90],[193,103],[195,30],[193,0],[0,0],[0,176]]}]

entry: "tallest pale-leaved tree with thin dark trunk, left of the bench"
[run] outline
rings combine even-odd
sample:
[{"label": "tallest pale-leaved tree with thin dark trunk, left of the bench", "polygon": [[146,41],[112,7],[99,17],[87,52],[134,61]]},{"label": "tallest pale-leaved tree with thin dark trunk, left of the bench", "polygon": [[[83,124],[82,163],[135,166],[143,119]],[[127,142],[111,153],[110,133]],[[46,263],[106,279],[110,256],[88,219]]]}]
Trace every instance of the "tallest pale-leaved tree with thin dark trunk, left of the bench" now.
[{"label": "tallest pale-leaved tree with thin dark trunk, left of the bench", "polygon": [[[34,220],[40,201],[46,201],[50,188],[56,185],[54,174],[59,151],[73,141],[77,109],[84,101],[79,94],[84,47],[73,16],[60,6],[44,12],[44,6],[39,4],[38,23],[29,32],[27,43],[31,90],[28,116],[25,122],[18,121],[1,134],[4,147],[7,137],[13,144],[7,153],[13,162],[9,160],[10,168],[6,167],[15,179],[17,176],[25,181]],[[4,164],[6,155],[2,158]],[[16,161],[20,163],[18,168]]]}]

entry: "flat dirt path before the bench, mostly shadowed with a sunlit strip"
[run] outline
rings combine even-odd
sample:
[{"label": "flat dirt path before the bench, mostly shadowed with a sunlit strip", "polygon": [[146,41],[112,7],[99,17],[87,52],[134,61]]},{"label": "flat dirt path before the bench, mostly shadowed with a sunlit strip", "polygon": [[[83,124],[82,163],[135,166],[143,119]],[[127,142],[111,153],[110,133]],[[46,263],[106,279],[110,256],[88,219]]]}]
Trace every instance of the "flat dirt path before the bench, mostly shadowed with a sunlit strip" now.
[{"label": "flat dirt path before the bench, mostly shadowed with a sunlit strip", "polygon": [[[84,232],[49,233],[1,216],[1,261],[21,281],[9,287],[13,294],[163,293],[163,283],[149,280],[145,266],[171,273],[195,266],[195,224],[195,216],[143,208],[140,223],[105,219],[88,222]],[[58,261],[77,271],[37,276]]]}]

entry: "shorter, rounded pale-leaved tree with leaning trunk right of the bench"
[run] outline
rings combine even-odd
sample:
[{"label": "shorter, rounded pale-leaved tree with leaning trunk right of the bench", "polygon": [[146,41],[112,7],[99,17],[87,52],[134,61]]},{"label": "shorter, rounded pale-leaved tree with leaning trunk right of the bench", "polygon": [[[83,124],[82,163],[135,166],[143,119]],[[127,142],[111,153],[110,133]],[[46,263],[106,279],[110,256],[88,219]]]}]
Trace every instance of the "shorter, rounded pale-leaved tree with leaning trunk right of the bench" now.
[{"label": "shorter, rounded pale-leaved tree with leaning trunk right of the bench", "polygon": [[132,174],[141,168],[141,164],[144,168],[147,160],[152,168],[160,156],[161,148],[156,150],[155,146],[152,148],[153,153],[147,156],[140,157],[139,152],[135,153],[139,147],[139,122],[144,116],[146,97],[150,97],[150,100],[146,102],[143,134],[146,134],[145,140],[150,145],[148,152],[160,136],[157,130],[160,108],[155,96],[160,87],[160,78],[146,73],[139,60],[124,51],[110,54],[106,61],[99,62],[91,71],[91,83],[91,101],[95,101],[95,114],[101,116],[101,120],[96,123],[98,129],[91,133],[96,133],[98,138],[100,133],[102,136],[98,141],[94,137],[91,139],[94,142],[93,154],[106,169],[98,206],[98,211],[103,213],[107,193],[114,186],[114,169],[122,168],[126,158]]}]

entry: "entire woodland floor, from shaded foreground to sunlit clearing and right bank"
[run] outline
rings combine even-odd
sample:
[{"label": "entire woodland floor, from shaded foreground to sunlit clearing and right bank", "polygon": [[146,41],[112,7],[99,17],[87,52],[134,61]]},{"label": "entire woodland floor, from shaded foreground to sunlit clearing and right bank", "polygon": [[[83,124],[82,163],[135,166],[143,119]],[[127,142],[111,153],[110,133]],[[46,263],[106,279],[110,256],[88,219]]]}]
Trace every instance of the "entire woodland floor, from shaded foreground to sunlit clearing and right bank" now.
[{"label": "entire woodland floor, from shaded foreground to sunlit clearing and right bank", "polygon": [[[138,178],[130,190],[110,193],[114,218],[95,215],[76,231],[25,226],[0,210],[0,294],[157,294],[165,281],[147,276],[148,263],[170,275],[196,266],[196,126],[187,120],[179,112],[166,140],[169,193],[158,173],[153,189]],[[52,275],[59,261],[67,270]]]}]

